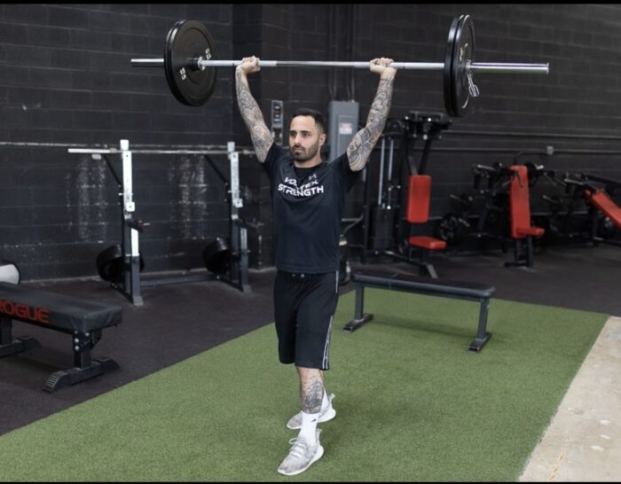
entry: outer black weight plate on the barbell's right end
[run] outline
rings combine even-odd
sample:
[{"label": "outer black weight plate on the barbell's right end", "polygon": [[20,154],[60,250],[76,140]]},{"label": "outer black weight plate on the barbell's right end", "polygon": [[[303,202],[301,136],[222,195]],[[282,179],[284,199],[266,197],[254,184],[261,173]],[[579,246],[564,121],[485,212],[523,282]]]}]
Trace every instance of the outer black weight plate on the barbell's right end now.
[{"label": "outer black weight plate on the barbell's right end", "polygon": [[464,15],[457,26],[452,54],[452,107],[458,117],[468,111],[470,91],[467,67],[468,62],[474,61],[475,24],[469,15]]}]

